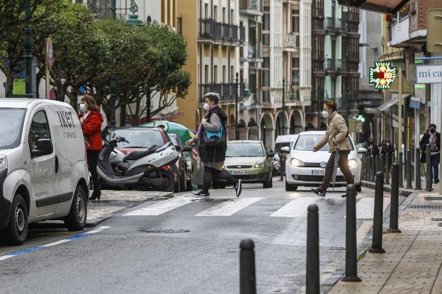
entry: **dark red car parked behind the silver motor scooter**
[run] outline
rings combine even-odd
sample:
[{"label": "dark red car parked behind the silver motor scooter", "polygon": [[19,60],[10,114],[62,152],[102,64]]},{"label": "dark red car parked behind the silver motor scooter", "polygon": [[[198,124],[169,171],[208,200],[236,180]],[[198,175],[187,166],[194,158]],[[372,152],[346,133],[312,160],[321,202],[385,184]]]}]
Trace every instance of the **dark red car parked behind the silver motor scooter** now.
[{"label": "dark red car parked behind the silver motor scooter", "polygon": [[[132,152],[147,151],[153,145],[163,146],[167,142],[171,142],[169,135],[161,128],[147,128],[147,127],[125,127],[125,128],[113,128],[110,130],[116,136],[125,137],[129,142],[119,142],[117,149],[123,152],[125,156],[128,156]],[[104,136],[110,132],[104,132]],[[179,160],[176,161],[174,166],[169,166],[169,169],[174,171],[175,188],[174,192],[180,191],[180,172],[179,172]]]}]

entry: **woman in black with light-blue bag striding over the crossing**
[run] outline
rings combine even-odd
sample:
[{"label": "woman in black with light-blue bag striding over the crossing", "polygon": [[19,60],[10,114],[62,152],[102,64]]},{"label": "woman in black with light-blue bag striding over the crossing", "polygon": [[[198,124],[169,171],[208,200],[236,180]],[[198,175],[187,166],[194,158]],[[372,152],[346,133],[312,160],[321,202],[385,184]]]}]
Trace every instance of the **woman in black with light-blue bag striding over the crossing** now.
[{"label": "woman in black with light-blue bag striding over the crossing", "polygon": [[227,115],[217,106],[220,94],[210,92],[205,94],[204,118],[201,120],[197,134],[193,139],[188,140],[186,145],[198,142],[198,153],[204,166],[203,190],[193,193],[198,197],[208,198],[209,188],[215,179],[225,179],[234,186],[236,196],[239,197],[242,191],[242,180],[235,179],[229,174],[224,166],[225,154],[227,151]]}]

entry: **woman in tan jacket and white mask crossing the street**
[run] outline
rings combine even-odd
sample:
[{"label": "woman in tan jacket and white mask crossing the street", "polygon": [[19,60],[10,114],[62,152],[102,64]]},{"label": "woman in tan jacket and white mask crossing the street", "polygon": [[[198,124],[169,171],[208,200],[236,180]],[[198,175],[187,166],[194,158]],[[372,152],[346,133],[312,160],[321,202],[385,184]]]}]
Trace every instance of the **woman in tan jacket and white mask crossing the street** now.
[{"label": "woman in tan jacket and white mask crossing the street", "polygon": [[[324,179],[321,186],[312,188],[312,192],[318,196],[324,197],[329,188],[331,180],[336,179],[336,169],[339,166],[346,179],[347,185],[354,184],[353,175],[348,168],[348,154],[351,151],[351,143],[348,140],[348,127],[346,121],[340,115],[333,100],[327,100],[323,104],[322,116],[328,118],[327,131],[324,137],[313,147],[313,152],[317,152],[324,145],[329,143],[330,158],[325,166]],[[345,197],[344,194],[342,197]]]}]

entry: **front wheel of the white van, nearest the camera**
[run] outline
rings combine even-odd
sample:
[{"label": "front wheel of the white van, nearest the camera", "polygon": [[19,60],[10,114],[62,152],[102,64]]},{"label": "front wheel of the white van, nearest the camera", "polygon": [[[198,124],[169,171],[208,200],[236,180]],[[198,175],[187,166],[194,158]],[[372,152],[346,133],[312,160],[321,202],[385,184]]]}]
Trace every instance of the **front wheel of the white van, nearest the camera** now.
[{"label": "front wheel of the white van, nearest the camera", "polygon": [[28,237],[28,207],[20,194],[13,199],[9,225],[1,232],[1,237],[10,245],[21,245]]}]

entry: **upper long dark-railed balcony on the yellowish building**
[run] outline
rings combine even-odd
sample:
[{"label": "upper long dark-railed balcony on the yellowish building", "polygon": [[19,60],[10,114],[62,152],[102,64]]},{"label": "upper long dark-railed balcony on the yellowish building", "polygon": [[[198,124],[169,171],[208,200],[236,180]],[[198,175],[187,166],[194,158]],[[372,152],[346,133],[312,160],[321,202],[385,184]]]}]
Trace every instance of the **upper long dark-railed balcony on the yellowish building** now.
[{"label": "upper long dark-railed balcony on the yellowish building", "polygon": [[[243,31],[245,39],[244,26],[239,27],[229,23],[218,23],[211,18],[201,18],[199,39],[210,40],[215,43],[232,43],[237,45],[238,43],[244,43],[244,40],[241,38]],[[238,38],[238,35],[240,35],[240,38]]]}]

